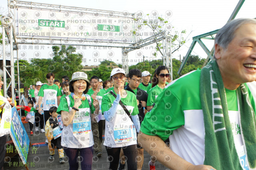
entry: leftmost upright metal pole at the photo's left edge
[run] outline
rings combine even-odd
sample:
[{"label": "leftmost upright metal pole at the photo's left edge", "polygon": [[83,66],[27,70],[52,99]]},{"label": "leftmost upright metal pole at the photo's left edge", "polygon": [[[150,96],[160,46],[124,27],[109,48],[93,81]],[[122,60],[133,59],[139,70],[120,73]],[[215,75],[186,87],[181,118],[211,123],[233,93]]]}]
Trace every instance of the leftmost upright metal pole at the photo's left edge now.
[{"label": "leftmost upright metal pole at the photo's left edge", "polygon": [[4,77],[3,77],[3,82],[4,82],[4,94],[2,94],[4,97],[6,97],[6,55],[5,55],[5,28],[6,28],[6,22],[5,22],[5,17],[2,16],[1,18],[1,22],[2,22],[2,45],[3,45],[3,72],[4,72]]}]

